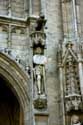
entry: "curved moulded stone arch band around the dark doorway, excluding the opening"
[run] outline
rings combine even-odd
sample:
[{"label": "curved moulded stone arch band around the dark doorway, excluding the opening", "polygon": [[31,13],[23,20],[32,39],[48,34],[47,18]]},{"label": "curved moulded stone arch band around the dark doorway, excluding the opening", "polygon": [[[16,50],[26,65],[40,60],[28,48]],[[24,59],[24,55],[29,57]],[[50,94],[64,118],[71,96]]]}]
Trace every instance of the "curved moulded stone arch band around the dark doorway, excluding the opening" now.
[{"label": "curved moulded stone arch band around the dark doorway, excluding the opening", "polygon": [[8,81],[8,86],[23,109],[23,124],[30,125],[29,79],[27,74],[13,59],[0,52],[0,76]]}]

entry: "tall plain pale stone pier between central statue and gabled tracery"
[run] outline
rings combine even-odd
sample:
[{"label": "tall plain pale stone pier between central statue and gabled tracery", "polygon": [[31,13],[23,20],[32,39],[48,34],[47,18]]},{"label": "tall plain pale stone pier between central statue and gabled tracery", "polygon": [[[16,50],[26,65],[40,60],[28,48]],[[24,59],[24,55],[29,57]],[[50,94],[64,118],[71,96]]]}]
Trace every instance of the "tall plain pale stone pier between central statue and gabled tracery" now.
[{"label": "tall plain pale stone pier between central statue and gabled tracery", "polygon": [[63,40],[62,18],[60,0],[46,1],[47,18],[47,94],[49,125],[61,125],[62,116],[60,110],[60,84],[57,69],[57,46],[60,40]]}]

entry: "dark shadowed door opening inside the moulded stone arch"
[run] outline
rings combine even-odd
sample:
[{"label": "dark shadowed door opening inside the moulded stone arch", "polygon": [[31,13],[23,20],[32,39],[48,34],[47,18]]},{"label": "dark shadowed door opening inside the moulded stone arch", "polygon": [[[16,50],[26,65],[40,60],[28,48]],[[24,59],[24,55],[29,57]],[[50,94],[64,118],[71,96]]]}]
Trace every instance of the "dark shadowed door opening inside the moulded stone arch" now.
[{"label": "dark shadowed door opening inside the moulded stone arch", "polygon": [[23,111],[8,81],[0,76],[0,125],[23,125]]}]

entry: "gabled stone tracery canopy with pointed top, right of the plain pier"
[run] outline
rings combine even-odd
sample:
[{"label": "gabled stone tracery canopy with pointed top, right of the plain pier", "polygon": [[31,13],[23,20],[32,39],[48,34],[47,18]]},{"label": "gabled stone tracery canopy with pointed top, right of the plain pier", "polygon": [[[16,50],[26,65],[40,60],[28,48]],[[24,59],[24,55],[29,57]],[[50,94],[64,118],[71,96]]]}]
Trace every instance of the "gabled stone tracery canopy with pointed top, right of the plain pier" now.
[{"label": "gabled stone tracery canopy with pointed top, right of the plain pier", "polygon": [[[58,51],[58,61],[59,68],[62,67],[63,71],[63,81],[62,90],[64,98],[64,112],[69,113],[73,111],[82,111],[82,93],[81,93],[81,81],[79,74],[79,54],[81,55],[81,50],[77,52],[75,48],[75,43],[69,41],[66,43],[66,49],[63,54],[63,48],[59,46]],[[79,44],[78,44],[79,46]],[[79,47],[78,47],[79,48]],[[76,51],[75,51],[76,50]],[[60,53],[62,52],[62,54]],[[61,55],[60,55],[61,54]],[[61,72],[60,72],[61,74]]]}]

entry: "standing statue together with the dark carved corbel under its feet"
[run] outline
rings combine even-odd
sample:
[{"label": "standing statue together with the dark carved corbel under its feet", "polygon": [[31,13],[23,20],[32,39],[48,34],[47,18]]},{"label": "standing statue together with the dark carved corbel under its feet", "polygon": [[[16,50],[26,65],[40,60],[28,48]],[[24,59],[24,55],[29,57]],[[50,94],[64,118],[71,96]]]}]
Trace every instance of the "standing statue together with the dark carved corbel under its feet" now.
[{"label": "standing statue together with the dark carved corbel under its feet", "polygon": [[34,66],[34,107],[36,109],[44,109],[47,107],[45,66],[41,64],[35,64]]}]

